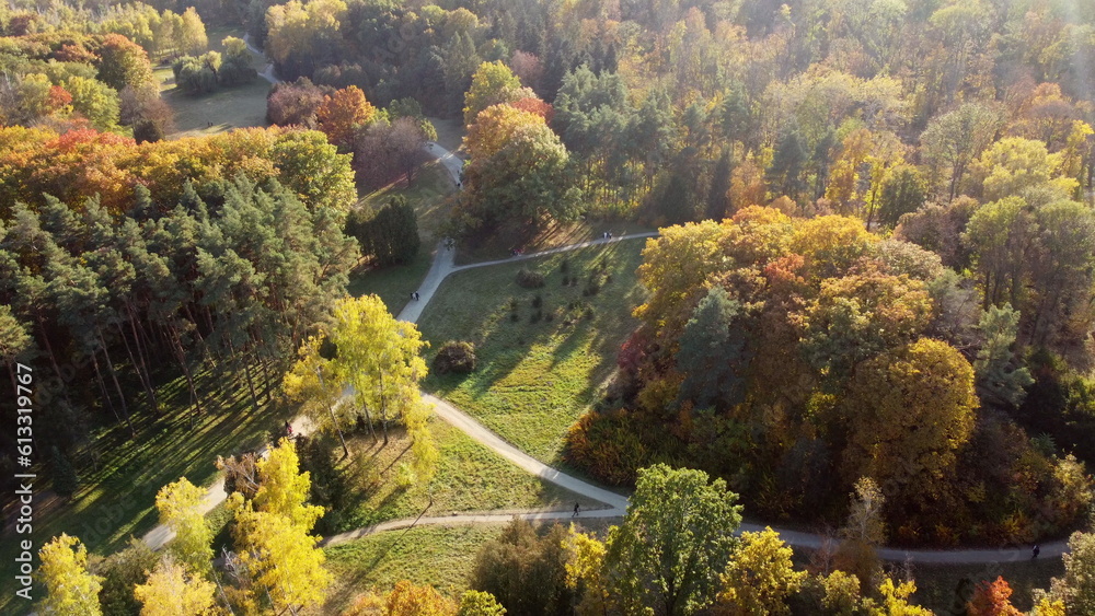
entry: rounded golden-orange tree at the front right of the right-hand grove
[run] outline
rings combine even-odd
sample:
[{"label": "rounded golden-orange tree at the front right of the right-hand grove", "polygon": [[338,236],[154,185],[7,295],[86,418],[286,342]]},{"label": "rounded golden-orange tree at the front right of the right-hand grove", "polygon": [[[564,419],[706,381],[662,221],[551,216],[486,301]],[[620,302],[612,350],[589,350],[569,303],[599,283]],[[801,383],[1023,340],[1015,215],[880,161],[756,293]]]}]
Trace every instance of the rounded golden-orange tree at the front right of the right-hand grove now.
[{"label": "rounded golden-orange tree at the front right of the right-hand grove", "polygon": [[845,473],[891,495],[931,495],[969,440],[977,407],[973,369],[946,342],[922,338],[868,359],[845,402]]}]

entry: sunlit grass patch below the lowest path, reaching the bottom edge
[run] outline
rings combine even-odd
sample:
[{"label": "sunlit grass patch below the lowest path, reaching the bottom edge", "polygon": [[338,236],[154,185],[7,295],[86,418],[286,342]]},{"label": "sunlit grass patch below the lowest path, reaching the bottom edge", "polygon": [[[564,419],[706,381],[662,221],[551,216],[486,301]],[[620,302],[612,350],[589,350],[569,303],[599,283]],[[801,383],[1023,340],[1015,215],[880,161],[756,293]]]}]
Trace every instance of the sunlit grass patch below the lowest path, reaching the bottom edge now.
[{"label": "sunlit grass patch below the lowest path, reaching the bottom edge", "polygon": [[387,593],[400,580],[458,596],[468,590],[475,555],[503,526],[418,526],[324,548],[335,583],[321,612],[337,614],[358,594],[371,589]]}]

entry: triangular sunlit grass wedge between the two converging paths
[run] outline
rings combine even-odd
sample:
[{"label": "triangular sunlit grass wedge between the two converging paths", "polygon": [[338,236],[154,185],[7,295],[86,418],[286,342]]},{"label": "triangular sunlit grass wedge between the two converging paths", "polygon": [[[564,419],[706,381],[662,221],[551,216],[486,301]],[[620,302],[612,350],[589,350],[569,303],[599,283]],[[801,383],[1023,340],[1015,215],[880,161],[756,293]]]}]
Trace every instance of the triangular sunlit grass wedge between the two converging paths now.
[{"label": "triangular sunlit grass wedge between the two converging paths", "polygon": [[[575,501],[585,509],[603,507],[549,484],[514,466],[460,430],[434,419],[430,431],[441,460],[429,486],[401,488],[400,463],[407,462],[411,441],[400,429],[384,446],[371,437],[355,435],[349,443],[353,464],[344,467],[355,502],[336,515],[332,532],[369,526],[388,520],[454,512],[545,509],[567,510]],[[341,455],[341,448],[336,448]],[[430,504],[433,496],[433,504]]]}]

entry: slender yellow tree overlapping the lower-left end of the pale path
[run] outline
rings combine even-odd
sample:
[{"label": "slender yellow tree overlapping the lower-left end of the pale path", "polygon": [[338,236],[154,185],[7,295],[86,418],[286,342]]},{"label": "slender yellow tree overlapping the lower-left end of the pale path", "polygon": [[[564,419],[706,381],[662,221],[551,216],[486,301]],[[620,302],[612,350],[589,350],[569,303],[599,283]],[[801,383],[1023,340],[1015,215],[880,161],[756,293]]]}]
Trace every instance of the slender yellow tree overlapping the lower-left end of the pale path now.
[{"label": "slender yellow tree overlapping the lower-left end of the pale path", "polygon": [[160,523],[175,533],[169,544],[170,551],[181,565],[198,574],[209,571],[212,566],[212,531],[201,510],[204,500],[205,490],[185,477],[160,488],[155,495]]}]

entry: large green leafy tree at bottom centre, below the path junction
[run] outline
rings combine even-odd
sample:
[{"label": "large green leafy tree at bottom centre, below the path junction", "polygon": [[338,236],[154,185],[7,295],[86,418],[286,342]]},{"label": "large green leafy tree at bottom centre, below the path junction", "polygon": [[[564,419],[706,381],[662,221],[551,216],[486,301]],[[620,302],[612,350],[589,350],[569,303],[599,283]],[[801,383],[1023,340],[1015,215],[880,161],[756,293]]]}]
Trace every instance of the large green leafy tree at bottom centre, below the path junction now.
[{"label": "large green leafy tree at bottom centre, below the path junction", "polygon": [[737,495],[702,470],[658,464],[641,469],[619,527],[609,532],[609,595],[624,612],[691,614],[718,592],[712,571],[729,561],[741,523]]}]

